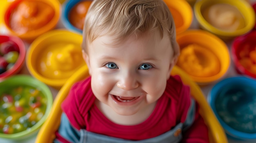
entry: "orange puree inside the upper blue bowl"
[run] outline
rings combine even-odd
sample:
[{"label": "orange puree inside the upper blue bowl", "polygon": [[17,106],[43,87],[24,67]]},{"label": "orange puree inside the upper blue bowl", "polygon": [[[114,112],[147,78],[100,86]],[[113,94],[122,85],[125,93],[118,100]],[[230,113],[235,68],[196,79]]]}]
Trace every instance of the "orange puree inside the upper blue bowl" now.
[{"label": "orange puree inside the upper blue bowl", "polygon": [[69,20],[72,25],[78,29],[83,29],[83,22],[85,15],[91,5],[92,1],[82,1],[77,3],[69,13]]}]

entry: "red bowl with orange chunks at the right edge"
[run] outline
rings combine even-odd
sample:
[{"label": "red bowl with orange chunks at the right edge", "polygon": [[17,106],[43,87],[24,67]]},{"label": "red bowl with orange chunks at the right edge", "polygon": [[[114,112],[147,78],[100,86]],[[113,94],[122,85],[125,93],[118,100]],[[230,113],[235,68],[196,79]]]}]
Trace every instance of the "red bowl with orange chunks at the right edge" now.
[{"label": "red bowl with orange chunks at the right edge", "polygon": [[[231,58],[234,62],[235,68],[238,73],[243,75],[248,75],[250,77],[256,78],[256,73],[253,73],[248,70],[248,68],[245,68],[240,63],[240,59],[242,59],[242,54],[246,53],[245,51],[256,51],[256,31],[251,31],[250,33],[247,33],[245,35],[238,36],[234,39],[234,42],[231,46]],[[256,63],[254,63],[256,65]]]}]

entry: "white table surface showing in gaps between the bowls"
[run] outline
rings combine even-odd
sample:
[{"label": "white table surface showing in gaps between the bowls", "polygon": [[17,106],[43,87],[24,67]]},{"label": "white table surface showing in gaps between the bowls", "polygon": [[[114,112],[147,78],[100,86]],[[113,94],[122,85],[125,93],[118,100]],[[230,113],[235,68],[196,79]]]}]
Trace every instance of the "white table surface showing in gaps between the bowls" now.
[{"label": "white table surface showing in gaps between the bowls", "polygon": [[[253,3],[256,2],[256,0],[250,0],[250,2],[251,2],[251,4],[253,4]],[[58,22],[58,24],[56,26],[56,29],[60,29],[60,28],[64,28],[63,24],[61,23],[61,20]],[[193,18],[193,22],[192,22],[189,29],[199,29],[198,22],[195,19],[195,16]],[[6,29],[4,29],[4,27],[0,25],[0,34],[7,34],[7,33],[8,32],[6,31]],[[227,44],[227,46],[229,47],[229,50],[230,50],[232,41],[229,41],[229,42],[226,41],[225,43]],[[25,45],[26,45],[26,48],[28,49],[29,44],[25,43]],[[27,70],[26,65],[24,65],[24,67],[22,68],[22,70],[20,71],[19,74],[30,75],[29,71]],[[229,70],[228,70],[227,75],[225,77],[233,77],[233,76],[236,76],[236,75],[238,75],[238,74],[236,73],[236,70],[234,68],[234,64],[231,60]],[[214,84],[210,84],[210,85],[201,87],[201,89],[204,92],[204,95],[206,96],[206,98],[207,98],[207,95],[208,95],[208,93],[210,92],[210,90],[213,86],[214,86]],[[50,86],[49,86],[49,88],[52,91],[53,97],[55,98],[57,93],[58,93],[58,90],[56,90],[56,89],[54,89]],[[33,136],[30,136],[28,139],[18,140],[18,141],[9,141],[9,140],[0,139],[0,143],[34,143],[35,139],[36,139],[36,134],[34,134]],[[237,140],[230,139],[230,138],[228,138],[228,141],[229,141],[229,143],[256,143],[256,141],[237,141]]]}]

